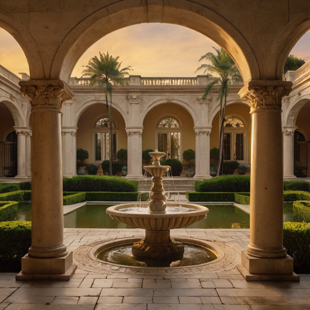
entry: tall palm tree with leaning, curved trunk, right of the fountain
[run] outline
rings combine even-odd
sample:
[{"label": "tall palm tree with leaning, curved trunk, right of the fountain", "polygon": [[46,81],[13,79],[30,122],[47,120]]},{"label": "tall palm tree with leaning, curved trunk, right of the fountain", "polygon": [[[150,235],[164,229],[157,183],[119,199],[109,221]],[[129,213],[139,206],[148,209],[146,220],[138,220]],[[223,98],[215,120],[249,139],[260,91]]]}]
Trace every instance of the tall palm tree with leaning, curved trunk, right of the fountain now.
[{"label": "tall palm tree with leaning, curved trunk, right of the fountain", "polygon": [[242,81],[241,74],[233,62],[231,57],[227,52],[221,48],[220,50],[213,47],[217,52],[217,55],[209,52],[206,55],[201,56],[201,60],[209,60],[209,64],[202,64],[197,68],[195,73],[200,69],[205,69],[206,71],[214,72],[219,75],[215,77],[212,81],[206,86],[205,92],[202,95],[202,100],[206,100],[206,97],[211,93],[215,85],[219,85],[219,162],[217,165],[216,175],[218,176],[221,172],[223,174],[223,160],[224,160],[224,115],[226,108],[226,99],[229,93],[228,82],[230,80]]}]

